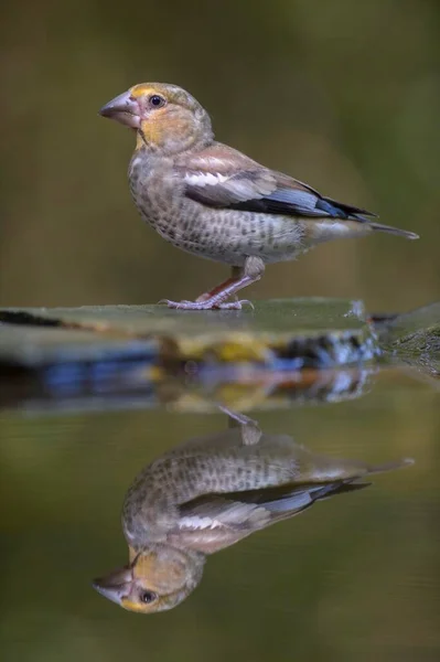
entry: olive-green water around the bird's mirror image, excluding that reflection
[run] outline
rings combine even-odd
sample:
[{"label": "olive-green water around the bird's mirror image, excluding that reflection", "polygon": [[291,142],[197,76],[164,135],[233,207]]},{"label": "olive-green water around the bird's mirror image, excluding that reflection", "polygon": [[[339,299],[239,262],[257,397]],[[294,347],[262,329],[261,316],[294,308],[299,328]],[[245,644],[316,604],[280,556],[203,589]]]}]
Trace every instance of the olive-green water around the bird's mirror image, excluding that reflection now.
[{"label": "olive-green water around the bird's mirror image, excluding that reflection", "polygon": [[92,587],[128,562],[125,494],[173,447],[227,430],[227,416],[139,402],[136,410],[3,410],[3,659],[437,660],[439,392],[391,370],[353,395],[240,402],[265,434],[312,453],[415,465],[215,553],[187,599],[148,616]]}]

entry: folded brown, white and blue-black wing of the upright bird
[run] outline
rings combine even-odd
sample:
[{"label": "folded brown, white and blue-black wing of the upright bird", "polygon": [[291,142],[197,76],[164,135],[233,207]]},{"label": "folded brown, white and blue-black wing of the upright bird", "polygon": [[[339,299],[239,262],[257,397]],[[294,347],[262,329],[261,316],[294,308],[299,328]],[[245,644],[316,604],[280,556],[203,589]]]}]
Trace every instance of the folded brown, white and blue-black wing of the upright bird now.
[{"label": "folded brown, white and blue-black wing of the upright bird", "polygon": [[287,174],[221,143],[178,158],[185,195],[202,204],[266,214],[367,221],[371,212],[324,197]]}]

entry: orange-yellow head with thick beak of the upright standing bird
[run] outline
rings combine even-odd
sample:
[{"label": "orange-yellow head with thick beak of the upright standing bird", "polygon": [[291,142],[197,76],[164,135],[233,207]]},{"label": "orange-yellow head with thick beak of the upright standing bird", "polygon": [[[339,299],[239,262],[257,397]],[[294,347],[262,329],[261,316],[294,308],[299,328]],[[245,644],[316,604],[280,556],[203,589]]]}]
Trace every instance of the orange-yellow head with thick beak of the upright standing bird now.
[{"label": "orange-yellow head with thick beak of the upright standing bird", "polygon": [[211,119],[191,94],[165,83],[141,83],[103,106],[103,117],[138,132],[138,147],[179,153],[213,139]]}]

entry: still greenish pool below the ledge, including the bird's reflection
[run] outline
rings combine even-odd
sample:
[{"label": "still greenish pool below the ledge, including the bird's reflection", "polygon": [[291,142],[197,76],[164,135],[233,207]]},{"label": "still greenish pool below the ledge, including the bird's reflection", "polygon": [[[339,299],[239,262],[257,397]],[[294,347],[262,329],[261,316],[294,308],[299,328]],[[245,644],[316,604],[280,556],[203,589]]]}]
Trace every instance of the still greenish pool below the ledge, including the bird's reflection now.
[{"label": "still greenish pool below the ledge, including the bird's reflection", "polygon": [[255,391],[3,409],[2,660],[440,658],[438,383]]}]

